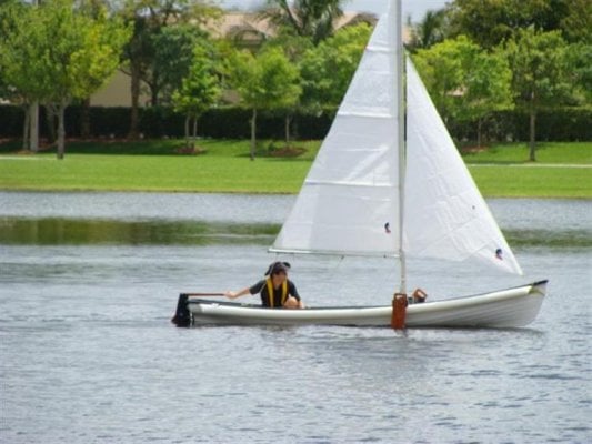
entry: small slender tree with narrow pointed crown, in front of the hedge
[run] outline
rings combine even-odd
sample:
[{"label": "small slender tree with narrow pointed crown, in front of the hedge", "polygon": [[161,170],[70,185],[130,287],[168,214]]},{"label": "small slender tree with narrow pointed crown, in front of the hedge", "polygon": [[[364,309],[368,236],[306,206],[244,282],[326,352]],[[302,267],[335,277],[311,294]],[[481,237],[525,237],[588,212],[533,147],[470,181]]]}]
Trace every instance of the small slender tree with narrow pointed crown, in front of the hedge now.
[{"label": "small slender tree with narrow pointed crown, in front of the hedge", "polygon": [[[182,80],[181,88],[172,94],[175,111],[185,114],[187,147],[195,149],[198,120],[220,97],[220,80],[211,48],[195,46],[189,74]],[[190,137],[190,123],[192,135]]]}]

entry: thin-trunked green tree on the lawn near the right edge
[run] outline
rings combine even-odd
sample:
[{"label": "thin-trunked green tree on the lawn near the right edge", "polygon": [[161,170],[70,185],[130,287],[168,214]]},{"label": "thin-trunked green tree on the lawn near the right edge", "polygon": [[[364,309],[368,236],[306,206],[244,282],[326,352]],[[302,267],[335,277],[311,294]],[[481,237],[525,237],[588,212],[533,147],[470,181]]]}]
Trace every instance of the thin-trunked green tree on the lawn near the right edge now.
[{"label": "thin-trunked green tree on the lawn near the right edge", "polygon": [[536,160],[536,113],[565,101],[571,91],[568,46],[559,31],[520,30],[505,44],[516,107],[530,117],[530,154]]}]

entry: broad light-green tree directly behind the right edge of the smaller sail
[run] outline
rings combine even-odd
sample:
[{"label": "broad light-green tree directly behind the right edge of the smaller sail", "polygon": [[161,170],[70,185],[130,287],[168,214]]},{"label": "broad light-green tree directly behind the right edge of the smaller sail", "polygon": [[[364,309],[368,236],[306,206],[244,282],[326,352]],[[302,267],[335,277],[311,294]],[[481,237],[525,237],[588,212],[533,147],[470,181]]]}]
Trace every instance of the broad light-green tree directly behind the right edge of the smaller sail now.
[{"label": "broad light-green tree directly behind the right edge of the smaller sail", "polygon": [[461,36],[414,57],[418,70],[444,120],[476,121],[476,143],[488,114],[513,107],[512,72],[504,54],[482,50]]}]

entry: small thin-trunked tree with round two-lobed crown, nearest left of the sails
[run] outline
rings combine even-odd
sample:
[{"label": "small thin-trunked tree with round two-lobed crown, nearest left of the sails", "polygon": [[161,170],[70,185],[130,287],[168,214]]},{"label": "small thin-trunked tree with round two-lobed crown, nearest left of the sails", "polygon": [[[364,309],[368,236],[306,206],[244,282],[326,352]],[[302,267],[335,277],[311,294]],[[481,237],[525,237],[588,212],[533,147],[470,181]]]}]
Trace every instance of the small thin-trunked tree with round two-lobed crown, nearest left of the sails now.
[{"label": "small thin-trunked tree with round two-lobed crown, nearest left of the sails", "polygon": [[225,69],[241,104],[252,110],[250,157],[254,160],[258,111],[294,105],[301,93],[299,70],[279,48],[265,49],[257,56],[237,52]]}]

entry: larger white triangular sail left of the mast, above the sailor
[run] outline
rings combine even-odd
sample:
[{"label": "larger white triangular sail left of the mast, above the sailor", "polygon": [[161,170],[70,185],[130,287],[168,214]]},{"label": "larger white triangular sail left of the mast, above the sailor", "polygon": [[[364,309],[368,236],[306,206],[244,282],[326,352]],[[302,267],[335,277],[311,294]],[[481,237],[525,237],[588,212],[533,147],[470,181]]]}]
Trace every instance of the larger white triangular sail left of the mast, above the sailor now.
[{"label": "larger white triangular sail left of the mast, above the sailor", "polygon": [[399,249],[394,8],[370,38],[271,251],[395,255]]}]

